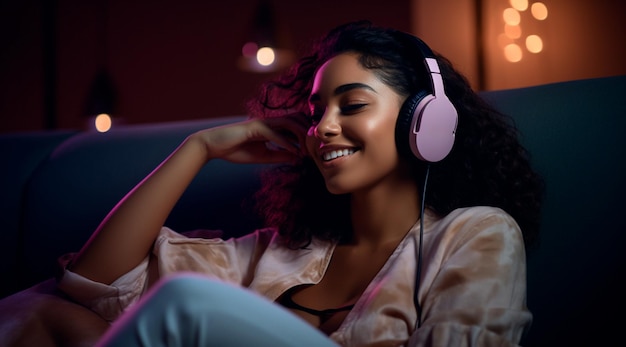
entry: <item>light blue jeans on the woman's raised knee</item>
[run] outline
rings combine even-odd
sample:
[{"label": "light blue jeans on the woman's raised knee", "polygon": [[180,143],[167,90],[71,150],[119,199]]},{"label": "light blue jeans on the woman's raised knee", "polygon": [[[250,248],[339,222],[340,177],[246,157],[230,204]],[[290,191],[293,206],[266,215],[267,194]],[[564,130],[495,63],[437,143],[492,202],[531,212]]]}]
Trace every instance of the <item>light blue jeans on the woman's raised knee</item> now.
[{"label": "light blue jeans on the woman's raised knee", "polygon": [[334,346],[285,308],[247,289],[193,274],[155,285],[98,346]]}]

